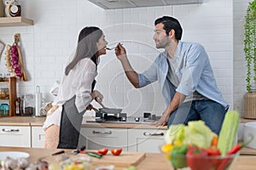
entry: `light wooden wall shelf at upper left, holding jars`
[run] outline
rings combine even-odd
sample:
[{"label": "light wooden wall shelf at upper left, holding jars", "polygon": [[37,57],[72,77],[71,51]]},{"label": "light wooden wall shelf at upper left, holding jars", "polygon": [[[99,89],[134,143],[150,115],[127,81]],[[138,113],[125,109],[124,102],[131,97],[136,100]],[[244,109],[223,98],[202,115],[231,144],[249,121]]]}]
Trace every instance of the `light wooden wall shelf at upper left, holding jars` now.
[{"label": "light wooden wall shelf at upper left, holding jars", "polygon": [[3,26],[33,26],[34,21],[19,17],[0,17],[0,27]]}]

